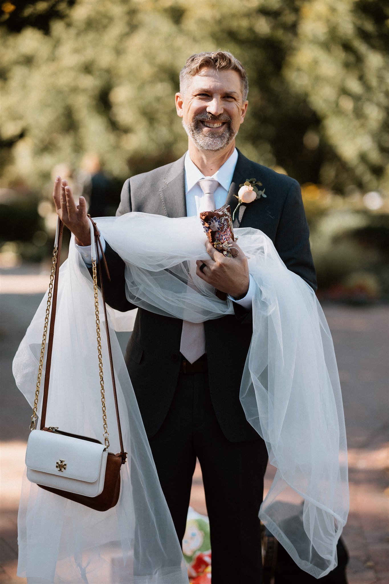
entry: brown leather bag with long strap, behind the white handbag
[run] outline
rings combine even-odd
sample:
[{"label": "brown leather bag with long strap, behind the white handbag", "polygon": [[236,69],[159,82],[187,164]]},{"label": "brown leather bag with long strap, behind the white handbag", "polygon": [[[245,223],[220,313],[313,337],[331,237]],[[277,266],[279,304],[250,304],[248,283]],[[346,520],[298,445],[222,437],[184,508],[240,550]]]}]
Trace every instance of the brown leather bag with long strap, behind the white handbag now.
[{"label": "brown leather bag with long strap, behind the white handbag", "polygon": [[[90,218],[90,217],[89,217]],[[90,218],[90,221],[92,219]],[[45,426],[45,419],[46,419],[46,411],[47,411],[47,398],[48,398],[48,385],[50,381],[50,367],[51,367],[51,354],[52,354],[52,341],[54,338],[54,325],[55,325],[55,311],[57,307],[57,292],[58,292],[58,274],[59,274],[59,260],[61,258],[61,248],[62,248],[62,234],[64,230],[64,224],[61,220],[58,220],[59,224],[59,231],[58,231],[58,245],[54,246],[54,254],[53,258],[55,258],[55,262],[53,260],[53,266],[55,263],[55,270],[54,270],[54,287],[52,287],[52,300],[51,300],[51,320],[50,320],[50,329],[48,333],[48,343],[47,343],[47,360],[46,360],[46,368],[45,368],[45,379],[44,379],[44,391],[43,391],[43,404],[42,404],[42,412],[41,412],[41,422],[40,422],[40,429],[45,430],[47,432],[55,432],[57,434],[62,434],[64,436],[71,436],[74,438],[78,438],[80,440],[89,440],[90,442],[97,442],[100,443],[99,440],[95,438],[90,438],[87,436],[79,436],[79,434],[72,434],[69,432],[64,432],[62,430],[58,430],[57,427]],[[103,307],[104,307],[104,317],[107,322],[107,310],[106,310],[106,301],[104,297],[104,289],[103,289],[103,280],[101,278],[101,262],[99,258],[99,248],[101,251],[101,255],[104,262],[104,267],[107,272],[108,279],[110,279],[110,274],[108,272],[108,266],[106,262],[106,258],[104,257],[103,248],[101,246],[99,231],[97,230],[97,225],[92,221],[93,224],[93,231],[94,231],[94,239],[96,242],[96,249],[97,249],[97,263],[99,266],[99,275],[100,275],[100,287],[101,287],[101,295],[103,296]],[[96,266],[94,266],[94,285],[97,291],[97,278],[96,278]],[[118,409],[118,402],[117,402],[117,394],[116,394],[116,385],[115,385],[115,375],[114,375],[114,367],[112,361],[112,353],[111,353],[111,342],[110,342],[110,333],[108,330],[108,326],[106,326],[107,331],[107,343],[108,343],[108,353],[110,358],[110,366],[111,366],[111,377],[112,377],[112,384],[113,384],[113,392],[114,392],[114,401],[115,401],[115,409],[116,409],[116,418],[117,418],[117,425],[118,425],[118,433],[119,433],[119,440],[120,440],[120,453],[113,454],[108,452],[107,455],[107,465],[106,465],[106,473],[104,478],[104,488],[100,495],[95,497],[88,497],[85,495],[79,495],[78,493],[71,493],[69,491],[62,491],[61,489],[52,488],[50,486],[45,485],[38,485],[45,491],[50,491],[59,495],[61,497],[65,497],[66,499],[70,499],[72,501],[76,501],[77,503],[81,503],[81,505],[85,505],[86,507],[90,507],[91,509],[95,509],[97,511],[106,511],[114,507],[118,502],[119,495],[120,495],[120,469],[121,465],[125,464],[127,459],[127,452],[124,452],[122,434],[121,434],[121,427],[120,427],[120,416],[119,416],[119,409]],[[43,353],[44,353],[44,345],[43,345]],[[43,361],[43,357],[42,357]],[[40,363],[40,373],[41,373],[41,363]],[[101,371],[100,371],[101,374]],[[101,375],[100,375],[101,377]],[[38,383],[37,383],[37,394],[36,394],[36,401],[34,404],[34,412],[31,416],[31,426],[30,429],[33,430],[35,428],[35,419],[36,419],[36,409],[37,409],[37,401],[38,401],[38,394],[39,394],[39,383],[40,383],[40,374],[38,374]],[[104,419],[104,416],[103,416]],[[106,426],[104,426],[106,430]],[[104,440],[106,447],[109,446],[108,440],[108,432],[104,432]]]}]

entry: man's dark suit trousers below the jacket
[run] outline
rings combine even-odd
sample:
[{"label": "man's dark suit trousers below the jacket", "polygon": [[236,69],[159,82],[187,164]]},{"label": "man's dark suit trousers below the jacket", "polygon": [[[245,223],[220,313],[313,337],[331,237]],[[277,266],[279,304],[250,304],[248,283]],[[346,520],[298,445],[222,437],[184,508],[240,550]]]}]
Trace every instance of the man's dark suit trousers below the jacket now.
[{"label": "man's dark suit trousers below the jacket", "polygon": [[212,584],[261,583],[264,441],[227,440],[213,411],[208,374],[180,373],[166,419],[149,442],[180,542],[199,460],[211,528]]}]

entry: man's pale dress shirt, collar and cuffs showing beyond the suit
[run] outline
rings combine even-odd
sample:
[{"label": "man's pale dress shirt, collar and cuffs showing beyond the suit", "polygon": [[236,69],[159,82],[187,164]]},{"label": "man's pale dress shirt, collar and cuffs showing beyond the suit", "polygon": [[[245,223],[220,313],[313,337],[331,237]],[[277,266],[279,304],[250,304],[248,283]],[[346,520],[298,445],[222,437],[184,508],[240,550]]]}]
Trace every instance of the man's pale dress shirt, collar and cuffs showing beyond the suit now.
[{"label": "man's pale dress shirt, collar and cuffs showing beyond the suit", "polygon": [[[232,182],[232,177],[235,170],[237,159],[238,152],[236,148],[234,148],[232,155],[226,160],[226,162],[222,166],[220,166],[219,170],[212,175],[212,178],[218,180],[219,182],[218,188],[213,193],[213,197],[215,198],[216,209],[222,207],[226,203],[227,194],[230,188],[230,184]],[[204,197],[204,193],[202,192],[201,186],[199,185],[198,181],[200,179],[204,179],[205,177],[203,173],[199,171],[194,162],[191,161],[189,152],[187,152],[187,154],[185,155],[184,168],[185,168],[185,199],[187,203],[187,217],[193,217],[194,215],[198,216],[200,201],[202,197]],[[105,251],[106,242],[103,237],[100,237],[100,239],[103,251]],[[76,248],[78,249],[78,252],[80,253],[82,259],[84,260],[85,265],[88,267],[92,266],[90,245],[76,245]],[[244,308],[249,310],[251,308],[253,300],[253,293],[254,281],[250,274],[250,284],[246,296],[244,296],[240,300],[235,300],[235,298],[233,298],[232,296],[229,296],[229,298],[236,302],[237,304],[240,304]]]}]

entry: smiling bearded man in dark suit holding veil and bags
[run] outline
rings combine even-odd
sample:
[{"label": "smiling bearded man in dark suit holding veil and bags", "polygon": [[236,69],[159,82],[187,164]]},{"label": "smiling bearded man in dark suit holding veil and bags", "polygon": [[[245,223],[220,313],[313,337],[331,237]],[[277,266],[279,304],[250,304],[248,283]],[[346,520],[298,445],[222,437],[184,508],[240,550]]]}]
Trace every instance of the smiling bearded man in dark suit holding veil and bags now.
[{"label": "smiling bearded man in dark suit holding veil and bags", "polygon": [[[232,54],[188,58],[176,94],[188,151],[172,164],[126,180],[117,215],[141,211],[183,217],[225,203],[234,211],[240,183],[255,178],[267,198],[241,205],[234,227],[263,231],[286,267],[316,288],[298,183],[236,150],[247,93],[246,71]],[[85,200],[76,207],[69,186],[59,178],[54,200],[87,263]],[[198,458],[211,526],[212,583],[257,584],[262,582],[258,510],[268,454],[239,401],[253,333],[253,287],[239,246],[234,258],[225,258],[211,244],[207,251],[209,260],[197,262],[197,274],[230,296],[235,314],[192,324],[139,308],[125,360],[178,538],[183,540]],[[121,311],[136,308],[125,296],[124,263],[108,244],[106,259],[108,304]]]}]

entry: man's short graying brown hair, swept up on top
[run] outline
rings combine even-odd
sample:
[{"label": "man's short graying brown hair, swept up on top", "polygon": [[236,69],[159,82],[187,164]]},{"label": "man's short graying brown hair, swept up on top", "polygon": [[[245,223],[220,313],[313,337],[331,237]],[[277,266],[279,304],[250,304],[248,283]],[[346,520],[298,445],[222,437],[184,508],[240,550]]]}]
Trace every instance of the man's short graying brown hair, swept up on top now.
[{"label": "man's short graying brown hair, swept up on top", "polygon": [[211,67],[217,71],[236,71],[241,80],[241,90],[243,101],[245,102],[248,94],[248,79],[246,69],[241,62],[227,51],[216,51],[215,53],[197,53],[191,55],[185,66],[180,71],[180,92],[185,93],[188,77],[194,77],[204,67]]}]

